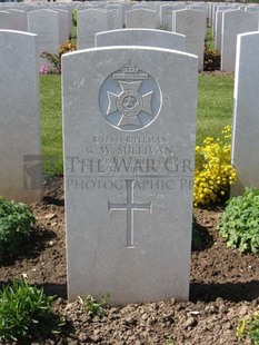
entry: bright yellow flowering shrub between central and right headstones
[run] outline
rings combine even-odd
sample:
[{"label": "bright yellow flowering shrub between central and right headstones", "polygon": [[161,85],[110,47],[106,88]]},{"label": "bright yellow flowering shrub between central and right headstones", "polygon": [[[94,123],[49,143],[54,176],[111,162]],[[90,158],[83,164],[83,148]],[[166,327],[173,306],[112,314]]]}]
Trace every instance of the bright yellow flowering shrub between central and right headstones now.
[{"label": "bright yellow flowering shrub between central and right headstones", "polygon": [[237,172],[230,164],[231,127],[222,130],[222,138],[206,138],[196,147],[193,204],[220,201],[236,181]]}]

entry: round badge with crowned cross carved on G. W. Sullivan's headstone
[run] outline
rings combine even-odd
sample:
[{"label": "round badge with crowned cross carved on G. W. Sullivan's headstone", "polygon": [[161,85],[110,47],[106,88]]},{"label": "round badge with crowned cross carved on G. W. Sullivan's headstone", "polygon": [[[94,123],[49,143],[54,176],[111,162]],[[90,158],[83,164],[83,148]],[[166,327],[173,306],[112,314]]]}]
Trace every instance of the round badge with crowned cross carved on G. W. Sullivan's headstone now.
[{"label": "round badge with crowned cross carved on G. W. Sullivan's headstone", "polygon": [[153,78],[131,61],[109,76],[99,93],[99,107],[107,121],[126,131],[142,129],[158,117],[161,91]]}]

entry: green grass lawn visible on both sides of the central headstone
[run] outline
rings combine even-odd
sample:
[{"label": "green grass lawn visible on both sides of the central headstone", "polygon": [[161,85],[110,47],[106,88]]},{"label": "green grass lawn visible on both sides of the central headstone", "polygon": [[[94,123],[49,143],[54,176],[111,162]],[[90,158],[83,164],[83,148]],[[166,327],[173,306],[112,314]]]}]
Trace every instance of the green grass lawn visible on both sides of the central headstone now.
[{"label": "green grass lawn visible on both sides of the central headstone", "polygon": [[[53,157],[44,170],[62,172],[61,77],[40,76],[42,155]],[[197,114],[197,145],[218,137],[232,122],[233,76],[200,75]],[[48,160],[48,159],[47,159]]]}]

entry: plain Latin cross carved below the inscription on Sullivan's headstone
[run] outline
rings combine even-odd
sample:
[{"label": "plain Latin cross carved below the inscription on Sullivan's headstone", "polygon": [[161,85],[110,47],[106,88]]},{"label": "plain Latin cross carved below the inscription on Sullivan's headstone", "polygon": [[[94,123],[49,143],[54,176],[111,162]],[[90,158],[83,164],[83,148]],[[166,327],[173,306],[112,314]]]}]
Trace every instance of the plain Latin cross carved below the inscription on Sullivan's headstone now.
[{"label": "plain Latin cross carved below the inscription on Sullivan's headstone", "polygon": [[151,201],[147,204],[136,204],[133,200],[133,179],[126,179],[127,203],[111,204],[108,200],[108,211],[126,210],[127,211],[127,248],[133,248],[133,211],[135,210],[151,210]]}]

